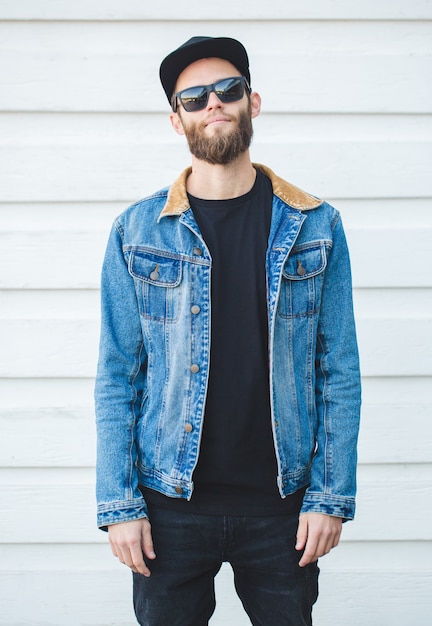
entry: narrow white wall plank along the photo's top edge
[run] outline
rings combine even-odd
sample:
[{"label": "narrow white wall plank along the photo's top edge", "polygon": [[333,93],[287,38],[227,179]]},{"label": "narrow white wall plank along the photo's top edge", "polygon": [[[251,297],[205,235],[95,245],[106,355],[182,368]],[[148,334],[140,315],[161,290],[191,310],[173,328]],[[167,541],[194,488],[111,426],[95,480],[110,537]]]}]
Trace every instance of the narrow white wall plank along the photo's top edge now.
[{"label": "narrow white wall plank along the photo's top edge", "polygon": [[267,21],[279,19],[292,20],[412,20],[432,17],[428,0],[393,0],[374,2],[365,0],[361,3],[347,3],[343,0],[308,0],[303,3],[287,3],[284,0],[272,0],[265,6],[258,0],[251,0],[247,5],[234,4],[220,0],[218,6],[205,5],[198,0],[190,0],[179,6],[174,0],[153,4],[140,0],[38,0],[38,2],[14,2],[1,0],[0,19],[2,20],[170,20],[193,22],[213,20],[221,24],[220,28],[232,28],[237,20]]}]

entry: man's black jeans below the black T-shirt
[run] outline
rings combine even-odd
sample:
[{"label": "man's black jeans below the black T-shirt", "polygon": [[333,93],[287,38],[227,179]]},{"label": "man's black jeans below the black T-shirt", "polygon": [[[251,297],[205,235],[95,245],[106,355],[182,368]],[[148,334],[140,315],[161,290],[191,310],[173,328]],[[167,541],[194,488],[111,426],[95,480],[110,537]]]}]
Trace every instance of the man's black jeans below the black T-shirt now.
[{"label": "man's black jeans below the black T-shirt", "polygon": [[[141,626],[205,626],[224,561],[254,626],[311,626],[318,566],[299,567],[298,516],[236,517],[150,510],[156,559],[134,576]],[[233,622],[233,626],[235,626]]]}]

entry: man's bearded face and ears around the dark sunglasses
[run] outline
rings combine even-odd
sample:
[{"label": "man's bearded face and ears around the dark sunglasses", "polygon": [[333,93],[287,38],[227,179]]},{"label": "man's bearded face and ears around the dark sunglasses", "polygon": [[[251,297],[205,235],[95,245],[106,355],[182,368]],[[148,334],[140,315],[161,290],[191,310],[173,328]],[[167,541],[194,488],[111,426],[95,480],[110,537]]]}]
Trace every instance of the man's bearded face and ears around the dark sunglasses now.
[{"label": "man's bearded face and ears around the dark sunglasses", "polygon": [[[201,59],[180,74],[175,91],[239,75],[237,68],[224,59]],[[171,114],[171,121],[175,130],[186,136],[189,149],[197,159],[226,165],[248,150],[253,134],[251,119],[258,112],[259,109],[252,110],[246,91],[242,100],[228,104],[212,92],[204,109],[188,113],[179,104],[177,113]]]}]

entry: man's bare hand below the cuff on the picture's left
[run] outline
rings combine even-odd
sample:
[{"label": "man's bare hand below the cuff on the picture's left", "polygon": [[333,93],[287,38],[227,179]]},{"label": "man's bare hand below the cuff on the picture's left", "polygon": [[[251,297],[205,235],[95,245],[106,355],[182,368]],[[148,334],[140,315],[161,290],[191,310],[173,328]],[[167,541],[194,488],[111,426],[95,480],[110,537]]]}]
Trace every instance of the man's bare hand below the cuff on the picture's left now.
[{"label": "man's bare hand below the cuff on the picture's left", "polygon": [[150,576],[143,553],[148,559],[155,559],[151,526],[148,519],[121,522],[108,526],[108,537],[111,550],[120,563],[124,563],[133,572]]}]

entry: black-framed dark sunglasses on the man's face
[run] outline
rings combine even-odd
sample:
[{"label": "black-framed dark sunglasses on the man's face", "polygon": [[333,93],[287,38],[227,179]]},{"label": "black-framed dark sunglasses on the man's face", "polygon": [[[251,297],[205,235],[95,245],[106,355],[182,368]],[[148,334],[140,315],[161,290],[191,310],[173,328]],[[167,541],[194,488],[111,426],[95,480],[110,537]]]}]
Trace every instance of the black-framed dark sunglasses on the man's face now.
[{"label": "black-framed dark sunglasses on the man's face", "polygon": [[213,85],[198,85],[197,87],[188,87],[177,92],[173,96],[172,108],[174,113],[177,112],[178,102],[188,113],[202,111],[207,106],[209,96],[214,92],[219,100],[223,103],[237,102],[243,98],[245,87],[250,93],[251,88],[244,76],[233,76],[232,78],[223,78]]}]

